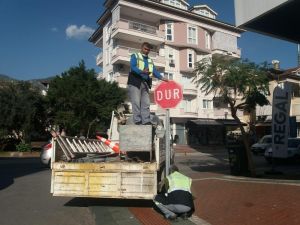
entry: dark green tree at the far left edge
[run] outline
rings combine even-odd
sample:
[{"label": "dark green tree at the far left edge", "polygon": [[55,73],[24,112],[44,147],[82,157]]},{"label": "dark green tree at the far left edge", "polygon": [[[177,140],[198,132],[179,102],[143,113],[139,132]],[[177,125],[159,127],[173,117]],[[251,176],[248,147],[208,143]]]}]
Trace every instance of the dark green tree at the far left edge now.
[{"label": "dark green tree at the far left edge", "polygon": [[14,135],[30,143],[34,132],[44,130],[44,98],[26,81],[1,81],[0,127],[2,135]]}]

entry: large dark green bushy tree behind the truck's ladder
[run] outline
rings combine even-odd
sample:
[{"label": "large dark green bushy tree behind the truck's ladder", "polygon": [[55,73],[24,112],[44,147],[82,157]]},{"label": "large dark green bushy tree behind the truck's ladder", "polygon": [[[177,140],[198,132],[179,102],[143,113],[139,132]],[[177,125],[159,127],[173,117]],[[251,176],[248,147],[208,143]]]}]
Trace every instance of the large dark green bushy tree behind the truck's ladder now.
[{"label": "large dark green bushy tree behind the truck's ladder", "polygon": [[95,71],[86,69],[81,61],[79,66],[71,67],[51,81],[47,93],[49,122],[66,128],[68,135],[86,135],[96,120],[100,121],[98,128],[104,130],[111,112],[125,97],[125,90],[116,82],[97,80]]}]

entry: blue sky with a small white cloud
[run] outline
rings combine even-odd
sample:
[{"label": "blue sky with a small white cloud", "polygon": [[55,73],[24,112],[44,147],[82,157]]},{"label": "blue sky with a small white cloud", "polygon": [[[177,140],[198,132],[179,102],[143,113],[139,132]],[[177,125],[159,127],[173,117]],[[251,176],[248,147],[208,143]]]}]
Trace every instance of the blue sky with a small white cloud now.
[{"label": "blue sky with a small white cloud", "polygon": [[[61,74],[84,60],[100,69],[99,49],[87,39],[97,28],[104,0],[0,0],[0,74],[20,80]],[[207,4],[217,19],[235,24],[233,0],[189,0]],[[256,63],[278,59],[282,68],[295,67],[296,44],[246,32],[238,41],[242,57]]]}]

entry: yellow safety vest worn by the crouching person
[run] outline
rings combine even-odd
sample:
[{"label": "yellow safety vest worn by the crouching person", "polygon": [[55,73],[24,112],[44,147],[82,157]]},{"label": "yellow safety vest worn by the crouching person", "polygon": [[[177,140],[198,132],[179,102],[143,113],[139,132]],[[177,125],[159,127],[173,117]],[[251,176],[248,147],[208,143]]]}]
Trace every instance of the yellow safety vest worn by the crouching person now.
[{"label": "yellow safety vest worn by the crouching person", "polygon": [[176,190],[188,191],[191,193],[191,178],[175,171],[174,173],[168,175],[167,179],[169,181],[168,193]]}]

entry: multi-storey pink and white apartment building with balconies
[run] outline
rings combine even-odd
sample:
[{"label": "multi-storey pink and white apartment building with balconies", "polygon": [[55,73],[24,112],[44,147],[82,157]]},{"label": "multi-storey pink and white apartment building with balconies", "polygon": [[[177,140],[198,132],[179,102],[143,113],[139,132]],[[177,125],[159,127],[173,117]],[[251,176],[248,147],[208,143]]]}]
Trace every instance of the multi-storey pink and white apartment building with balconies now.
[{"label": "multi-storey pink and white apartment building with balconies", "polygon": [[[173,135],[178,135],[179,143],[222,143],[224,127],[216,128],[218,120],[231,119],[230,110],[193,83],[194,64],[213,54],[239,58],[237,39],[244,30],[218,21],[209,6],[191,7],[184,0],[106,0],[103,4],[106,10],[89,39],[101,49],[96,59],[102,67],[99,78],[126,88],[130,55],[140,50],[141,43],[151,43],[150,56],[157,69],[183,87],[183,101],[170,110]],[[151,111],[164,113],[154,103]],[[200,132],[189,131],[191,121]]]}]

